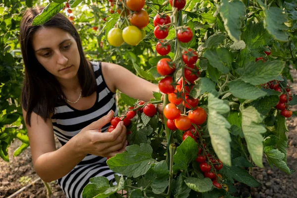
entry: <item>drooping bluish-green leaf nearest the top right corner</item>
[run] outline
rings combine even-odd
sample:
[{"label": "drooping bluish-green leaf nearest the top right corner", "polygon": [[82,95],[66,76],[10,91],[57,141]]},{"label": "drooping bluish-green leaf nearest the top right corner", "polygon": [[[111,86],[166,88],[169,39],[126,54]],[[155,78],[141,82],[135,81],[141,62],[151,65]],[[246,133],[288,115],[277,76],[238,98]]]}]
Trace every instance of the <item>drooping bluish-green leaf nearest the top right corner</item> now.
[{"label": "drooping bluish-green leaf nearest the top right corner", "polygon": [[271,6],[267,9],[261,0],[257,0],[257,2],[264,11],[264,27],[277,40],[288,41],[288,33],[286,31],[289,27],[285,24],[288,21],[288,15],[281,8]]}]

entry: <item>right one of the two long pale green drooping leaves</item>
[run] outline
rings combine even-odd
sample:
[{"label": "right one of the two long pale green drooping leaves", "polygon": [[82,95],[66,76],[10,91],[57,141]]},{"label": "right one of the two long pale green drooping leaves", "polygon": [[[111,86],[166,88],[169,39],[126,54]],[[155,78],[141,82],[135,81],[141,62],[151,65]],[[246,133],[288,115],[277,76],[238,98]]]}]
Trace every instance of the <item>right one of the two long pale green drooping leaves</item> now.
[{"label": "right one of the two long pale green drooping leaves", "polygon": [[253,106],[248,106],[242,110],[242,128],[247,142],[247,149],[253,162],[263,167],[263,137],[262,133],[266,132],[261,125],[263,117]]}]

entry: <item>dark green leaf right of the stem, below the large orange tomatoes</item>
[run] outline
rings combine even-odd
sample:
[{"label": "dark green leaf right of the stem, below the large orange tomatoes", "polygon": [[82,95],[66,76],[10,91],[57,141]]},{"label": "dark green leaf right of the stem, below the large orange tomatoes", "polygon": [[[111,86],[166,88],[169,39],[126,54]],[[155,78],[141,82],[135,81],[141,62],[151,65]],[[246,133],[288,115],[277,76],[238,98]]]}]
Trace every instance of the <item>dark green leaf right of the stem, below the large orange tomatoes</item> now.
[{"label": "dark green leaf right of the stem, below the large orange tomatoes", "polygon": [[198,147],[195,140],[191,137],[186,138],[182,144],[176,148],[176,153],[173,156],[173,171],[187,170],[188,164],[196,159]]}]

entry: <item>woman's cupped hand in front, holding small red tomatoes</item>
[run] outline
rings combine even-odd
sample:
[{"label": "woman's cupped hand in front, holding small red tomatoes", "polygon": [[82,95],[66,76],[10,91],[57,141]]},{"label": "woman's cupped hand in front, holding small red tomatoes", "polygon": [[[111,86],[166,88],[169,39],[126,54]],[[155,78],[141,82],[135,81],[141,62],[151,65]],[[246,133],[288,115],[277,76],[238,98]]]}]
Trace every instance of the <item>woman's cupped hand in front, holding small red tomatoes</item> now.
[{"label": "woman's cupped hand in front, holding small red tomatoes", "polygon": [[111,110],[107,115],[83,128],[76,136],[76,146],[83,155],[94,154],[102,157],[112,157],[126,150],[126,127],[123,121],[119,122],[111,132],[101,133],[101,129],[113,118]]}]

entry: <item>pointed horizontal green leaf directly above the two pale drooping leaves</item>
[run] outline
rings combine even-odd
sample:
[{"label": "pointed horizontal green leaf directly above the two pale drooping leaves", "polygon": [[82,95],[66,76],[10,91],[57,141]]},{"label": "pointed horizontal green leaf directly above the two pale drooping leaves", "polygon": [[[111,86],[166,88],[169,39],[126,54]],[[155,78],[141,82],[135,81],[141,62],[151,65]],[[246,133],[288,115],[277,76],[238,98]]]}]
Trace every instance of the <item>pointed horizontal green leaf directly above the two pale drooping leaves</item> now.
[{"label": "pointed horizontal green leaf directly above the two pale drooping leaves", "polygon": [[228,86],[232,95],[240,99],[254,100],[267,94],[259,88],[243,81],[231,81],[228,83]]}]

